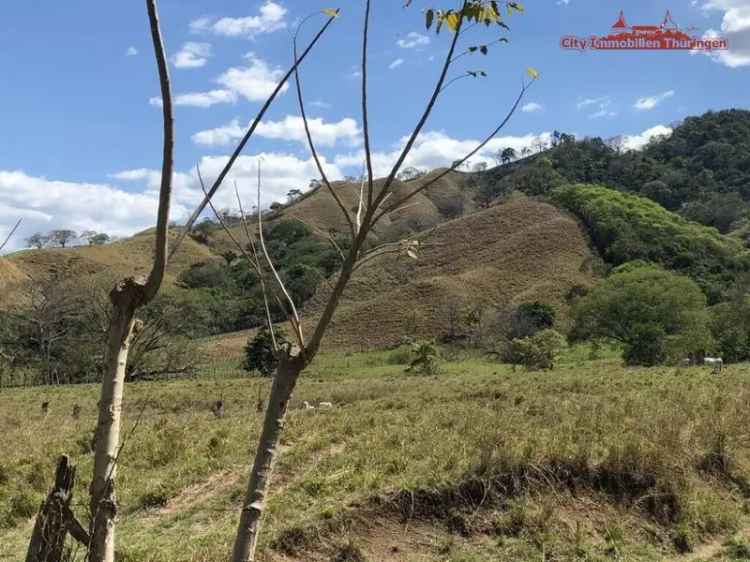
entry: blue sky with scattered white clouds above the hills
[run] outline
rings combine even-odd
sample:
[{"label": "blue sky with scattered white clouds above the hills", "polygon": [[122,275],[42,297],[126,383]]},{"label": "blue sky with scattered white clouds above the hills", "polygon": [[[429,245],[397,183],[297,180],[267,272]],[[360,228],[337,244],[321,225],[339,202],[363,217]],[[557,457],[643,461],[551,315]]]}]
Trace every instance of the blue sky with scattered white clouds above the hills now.
[{"label": "blue sky with scattered white clouds above the hills", "polygon": [[[160,0],[175,108],[175,193],[184,221],[200,200],[195,166],[218,174],[243,130],[291,62],[300,20],[327,7],[340,17],[303,63],[306,109],[332,179],[362,172],[359,59],[362,0]],[[369,49],[371,137],[376,175],[386,174],[416,124],[447,53],[450,33],[427,31],[424,10],[456,0],[373,0]],[[0,242],[6,251],[57,228],[127,236],[155,222],[161,167],[159,84],[145,2],[27,0],[0,19]],[[478,26],[462,48],[491,45],[457,61],[450,76],[483,70],[441,93],[406,165],[431,169],[471,150],[502,120],[526,69],[540,77],[519,110],[472,164],[500,148],[534,146],[554,130],[642,147],[689,115],[750,109],[750,0],[527,0],[510,30]],[[718,34],[730,50],[712,55],[571,51],[565,35],[604,35],[620,9],[630,24],[658,24],[667,9],[693,34]],[[321,14],[300,30],[308,41]],[[291,88],[283,91],[230,176],[255,200],[259,158],[263,205],[306,189],[317,172]],[[233,207],[231,183],[217,195]]]}]

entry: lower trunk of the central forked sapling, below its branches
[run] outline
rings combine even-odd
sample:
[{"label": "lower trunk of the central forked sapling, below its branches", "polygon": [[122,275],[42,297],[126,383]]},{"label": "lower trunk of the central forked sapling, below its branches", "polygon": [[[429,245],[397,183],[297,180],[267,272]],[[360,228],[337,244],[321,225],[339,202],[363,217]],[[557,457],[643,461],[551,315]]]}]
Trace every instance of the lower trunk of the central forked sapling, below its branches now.
[{"label": "lower trunk of the central forked sapling, below its branches", "polygon": [[232,551],[232,562],[255,560],[261,518],[266,509],[266,495],[271,484],[279,439],[284,429],[287,406],[304,366],[301,357],[290,357],[284,354],[276,370],[263,422],[263,431],[242,506],[239,529]]}]

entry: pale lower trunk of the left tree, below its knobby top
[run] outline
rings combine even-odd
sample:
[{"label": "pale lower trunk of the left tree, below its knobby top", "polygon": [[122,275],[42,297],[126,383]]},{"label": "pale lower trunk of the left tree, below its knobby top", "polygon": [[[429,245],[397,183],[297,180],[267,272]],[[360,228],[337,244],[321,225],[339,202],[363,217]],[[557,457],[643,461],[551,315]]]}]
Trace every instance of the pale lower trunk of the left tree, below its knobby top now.
[{"label": "pale lower trunk of the left tree, below its knobby top", "polygon": [[142,297],[143,285],[134,279],[119,283],[110,299],[114,310],[109,327],[107,356],[102,393],[99,399],[99,420],[96,426],[96,455],[91,494],[91,562],[114,562],[115,516],[117,498],[114,479],[120,445],[120,417],[125,371],[133,335],[135,310]]}]

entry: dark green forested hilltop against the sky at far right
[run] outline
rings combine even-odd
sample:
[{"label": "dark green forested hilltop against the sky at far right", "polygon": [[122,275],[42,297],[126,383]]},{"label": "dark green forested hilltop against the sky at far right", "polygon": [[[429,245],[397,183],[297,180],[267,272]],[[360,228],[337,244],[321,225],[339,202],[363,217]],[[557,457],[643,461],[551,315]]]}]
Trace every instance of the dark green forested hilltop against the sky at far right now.
[{"label": "dark green forested hilltop against the sky at far right", "polygon": [[565,136],[542,154],[477,177],[492,199],[510,191],[540,195],[565,183],[594,183],[648,197],[723,233],[747,229],[750,111],[688,117],[642,151],[618,152],[600,138]]}]

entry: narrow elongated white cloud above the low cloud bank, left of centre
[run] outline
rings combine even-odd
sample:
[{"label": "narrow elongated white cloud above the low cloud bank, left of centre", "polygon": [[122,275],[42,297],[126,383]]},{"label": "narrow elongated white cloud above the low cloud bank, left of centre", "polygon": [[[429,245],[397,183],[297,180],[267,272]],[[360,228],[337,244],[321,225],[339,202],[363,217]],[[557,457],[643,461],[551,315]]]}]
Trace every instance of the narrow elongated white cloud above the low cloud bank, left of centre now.
[{"label": "narrow elongated white cloud above the low cloud bank, left of centre", "polygon": [[[361,131],[357,122],[345,118],[334,123],[327,123],[321,118],[308,119],[310,133],[316,145],[334,146],[344,142],[350,146],[360,142]],[[238,141],[245,134],[247,127],[240,126],[238,120],[216,129],[200,131],[192,136],[196,144],[204,146],[226,146]],[[256,134],[275,140],[295,141],[307,145],[304,122],[301,117],[287,115],[281,121],[263,121],[257,128]]]}]

